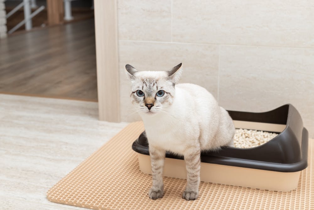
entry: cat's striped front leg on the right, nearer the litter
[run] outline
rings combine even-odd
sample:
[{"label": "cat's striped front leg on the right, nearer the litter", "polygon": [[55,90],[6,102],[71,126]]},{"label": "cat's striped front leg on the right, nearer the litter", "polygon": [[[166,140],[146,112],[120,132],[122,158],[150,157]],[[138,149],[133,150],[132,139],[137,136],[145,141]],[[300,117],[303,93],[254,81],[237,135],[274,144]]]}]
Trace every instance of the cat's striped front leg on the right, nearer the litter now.
[{"label": "cat's striped front leg on the right, nearer the litter", "polygon": [[187,187],[182,194],[185,200],[195,200],[198,198],[198,186],[200,182],[201,170],[201,149],[191,148],[184,154],[184,160],[187,168]]}]

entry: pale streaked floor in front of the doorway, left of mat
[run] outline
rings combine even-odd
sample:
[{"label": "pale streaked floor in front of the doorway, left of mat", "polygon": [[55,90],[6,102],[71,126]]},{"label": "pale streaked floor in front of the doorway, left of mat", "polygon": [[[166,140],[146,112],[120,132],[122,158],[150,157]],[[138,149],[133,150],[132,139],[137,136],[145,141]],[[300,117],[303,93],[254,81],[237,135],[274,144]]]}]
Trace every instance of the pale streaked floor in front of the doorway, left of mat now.
[{"label": "pale streaked floor in front of the doorway, left of mat", "polygon": [[127,125],[97,113],[96,102],[0,94],[0,209],[82,209],[46,191]]}]

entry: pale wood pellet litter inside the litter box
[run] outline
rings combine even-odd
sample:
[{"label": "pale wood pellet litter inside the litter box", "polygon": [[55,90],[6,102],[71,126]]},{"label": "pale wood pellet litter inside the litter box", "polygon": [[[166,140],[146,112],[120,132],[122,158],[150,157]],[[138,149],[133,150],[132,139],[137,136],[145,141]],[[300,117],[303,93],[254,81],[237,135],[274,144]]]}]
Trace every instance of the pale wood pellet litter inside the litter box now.
[{"label": "pale wood pellet litter inside the litter box", "polygon": [[237,148],[252,148],[262,145],[269,140],[276,137],[277,133],[271,133],[266,131],[256,131],[247,129],[236,129],[234,136],[234,147]]}]

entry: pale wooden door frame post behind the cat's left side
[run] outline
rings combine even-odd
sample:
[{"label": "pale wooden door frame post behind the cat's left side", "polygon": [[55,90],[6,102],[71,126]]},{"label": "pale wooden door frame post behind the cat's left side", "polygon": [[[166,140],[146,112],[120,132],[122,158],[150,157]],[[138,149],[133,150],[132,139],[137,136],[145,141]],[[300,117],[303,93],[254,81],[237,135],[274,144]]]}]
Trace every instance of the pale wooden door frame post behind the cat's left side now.
[{"label": "pale wooden door frame post behind the cat's left side", "polygon": [[117,0],[94,0],[99,120],[120,122]]}]

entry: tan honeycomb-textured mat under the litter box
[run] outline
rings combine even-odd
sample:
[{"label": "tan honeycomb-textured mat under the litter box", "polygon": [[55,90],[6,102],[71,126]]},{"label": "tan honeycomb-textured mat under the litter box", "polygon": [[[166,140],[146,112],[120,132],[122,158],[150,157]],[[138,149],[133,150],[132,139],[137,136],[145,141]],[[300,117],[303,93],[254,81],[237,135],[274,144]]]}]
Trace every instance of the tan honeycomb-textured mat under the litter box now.
[{"label": "tan honeycomb-textured mat under the litter box", "polygon": [[195,201],[181,198],[186,180],[164,178],[165,195],[149,199],[151,176],[138,167],[133,141],[143,132],[142,122],[125,127],[47,192],[52,202],[91,209],[314,209],[313,140],[309,162],[298,188],[290,192],[256,190],[201,182]]}]

